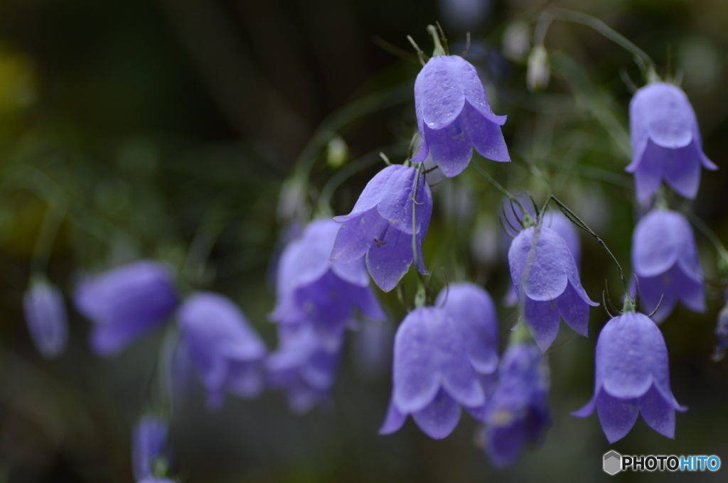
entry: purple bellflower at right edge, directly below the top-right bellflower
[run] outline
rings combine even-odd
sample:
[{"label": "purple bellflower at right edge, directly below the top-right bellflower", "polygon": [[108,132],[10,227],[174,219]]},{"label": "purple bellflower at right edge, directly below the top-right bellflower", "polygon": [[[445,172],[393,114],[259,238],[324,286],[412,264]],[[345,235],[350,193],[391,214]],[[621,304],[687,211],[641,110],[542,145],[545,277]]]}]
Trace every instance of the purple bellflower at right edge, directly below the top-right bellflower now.
[{"label": "purple bellflower at right edge, directly below the top-right bellflower", "polygon": [[703,271],[697,261],[695,237],[680,213],[654,209],[639,220],[632,235],[632,267],[647,313],[664,295],[652,316],[655,322],[670,315],[678,299],[692,311],[705,312]]}]

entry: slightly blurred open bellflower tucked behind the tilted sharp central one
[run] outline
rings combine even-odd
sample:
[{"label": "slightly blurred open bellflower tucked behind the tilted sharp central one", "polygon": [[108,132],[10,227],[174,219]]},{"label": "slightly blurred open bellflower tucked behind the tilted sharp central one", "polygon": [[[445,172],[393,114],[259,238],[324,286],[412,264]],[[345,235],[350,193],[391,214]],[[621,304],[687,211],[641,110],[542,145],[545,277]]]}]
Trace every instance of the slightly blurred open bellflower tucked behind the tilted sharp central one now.
[{"label": "slightly blurred open bellflower tucked behind the tilted sharp central one", "polygon": [[278,265],[276,307],[270,319],[282,324],[306,321],[324,343],[338,346],[355,311],[384,319],[363,260],[328,260],[340,228],[333,220],[314,220],[285,248]]}]

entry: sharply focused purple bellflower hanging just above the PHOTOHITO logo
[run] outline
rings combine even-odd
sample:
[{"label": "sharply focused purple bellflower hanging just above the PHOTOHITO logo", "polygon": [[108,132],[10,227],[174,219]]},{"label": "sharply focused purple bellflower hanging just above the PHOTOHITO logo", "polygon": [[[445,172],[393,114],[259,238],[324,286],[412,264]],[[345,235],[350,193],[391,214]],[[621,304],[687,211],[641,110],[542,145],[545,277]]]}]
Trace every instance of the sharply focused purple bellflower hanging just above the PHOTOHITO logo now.
[{"label": "sharply focused purple bellflower hanging just above the PHOTOHITO logo", "polygon": [[586,418],[595,408],[610,443],[630,432],[639,412],[654,431],[675,436],[675,411],[687,408],[670,391],[668,348],[648,316],[628,312],[601,330],[594,396],[574,416]]}]

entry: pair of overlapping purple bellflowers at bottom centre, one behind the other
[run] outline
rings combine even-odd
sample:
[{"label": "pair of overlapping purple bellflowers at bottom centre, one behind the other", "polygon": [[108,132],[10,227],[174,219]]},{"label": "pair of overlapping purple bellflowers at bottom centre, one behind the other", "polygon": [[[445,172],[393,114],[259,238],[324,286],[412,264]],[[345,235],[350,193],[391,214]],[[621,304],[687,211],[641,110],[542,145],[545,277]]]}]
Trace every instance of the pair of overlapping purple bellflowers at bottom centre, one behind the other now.
[{"label": "pair of overlapping purple bellflowers at bottom centre, one behind the other", "polygon": [[397,329],[392,399],[381,434],[398,431],[410,414],[434,439],[454,430],[461,406],[482,418],[498,364],[495,307],[474,284],[451,285],[438,303],[411,311]]}]

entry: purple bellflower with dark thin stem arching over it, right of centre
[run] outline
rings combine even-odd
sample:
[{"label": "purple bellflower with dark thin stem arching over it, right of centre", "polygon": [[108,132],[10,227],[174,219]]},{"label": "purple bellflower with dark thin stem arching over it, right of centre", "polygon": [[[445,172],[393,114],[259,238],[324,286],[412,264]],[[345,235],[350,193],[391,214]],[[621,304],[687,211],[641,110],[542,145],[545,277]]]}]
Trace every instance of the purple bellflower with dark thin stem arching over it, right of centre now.
[{"label": "purple bellflower with dark thin stem arching over it, right of centre", "polygon": [[518,305],[531,335],[545,351],[566,324],[587,335],[589,306],[574,257],[566,241],[551,228],[531,226],[518,233],[508,250],[510,276]]}]

